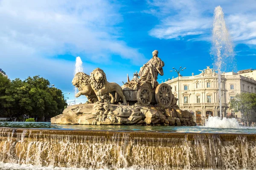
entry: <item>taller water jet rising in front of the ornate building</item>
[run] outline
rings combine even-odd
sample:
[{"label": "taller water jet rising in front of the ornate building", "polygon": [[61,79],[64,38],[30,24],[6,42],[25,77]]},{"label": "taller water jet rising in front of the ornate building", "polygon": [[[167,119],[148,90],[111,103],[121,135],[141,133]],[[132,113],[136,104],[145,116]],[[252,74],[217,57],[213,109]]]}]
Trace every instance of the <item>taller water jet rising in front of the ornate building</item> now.
[{"label": "taller water jet rising in front of the ornate building", "polygon": [[221,6],[217,6],[214,10],[214,20],[212,25],[212,49],[211,55],[214,57],[214,66],[218,70],[218,96],[220,102],[220,116],[221,113],[221,71],[224,71],[228,65],[233,65],[233,43],[227,31],[224,20],[224,13]]}]

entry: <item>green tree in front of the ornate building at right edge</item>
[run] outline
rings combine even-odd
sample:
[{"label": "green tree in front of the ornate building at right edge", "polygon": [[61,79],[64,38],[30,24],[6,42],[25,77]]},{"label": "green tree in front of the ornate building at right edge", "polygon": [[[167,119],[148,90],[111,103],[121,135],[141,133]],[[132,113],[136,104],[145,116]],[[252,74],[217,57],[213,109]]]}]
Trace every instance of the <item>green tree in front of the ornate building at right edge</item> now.
[{"label": "green tree in front of the ornate building at right edge", "polygon": [[235,99],[230,100],[230,108],[235,112],[241,112],[242,119],[246,120],[249,126],[250,117],[256,113],[256,94],[241,93],[235,96]]}]

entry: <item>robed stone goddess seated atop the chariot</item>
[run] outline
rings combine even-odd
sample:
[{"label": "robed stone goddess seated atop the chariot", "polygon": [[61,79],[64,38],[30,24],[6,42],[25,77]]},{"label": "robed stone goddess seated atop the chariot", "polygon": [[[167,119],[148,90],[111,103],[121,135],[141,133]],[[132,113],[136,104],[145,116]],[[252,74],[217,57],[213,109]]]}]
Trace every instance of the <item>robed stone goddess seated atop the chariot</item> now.
[{"label": "robed stone goddess seated atop the chariot", "polygon": [[152,52],[153,57],[140,68],[138,83],[149,82],[152,88],[158,85],[157,76],[160,74],[163,76],[164,62],[157,56],[158,51]]}]

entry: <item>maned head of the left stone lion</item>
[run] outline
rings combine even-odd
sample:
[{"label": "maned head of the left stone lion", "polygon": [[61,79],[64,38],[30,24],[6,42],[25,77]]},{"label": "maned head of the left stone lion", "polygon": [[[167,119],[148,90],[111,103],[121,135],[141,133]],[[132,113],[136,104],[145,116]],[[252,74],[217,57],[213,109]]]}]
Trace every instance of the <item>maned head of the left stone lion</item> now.
[{"label": "maned head of the left stone lion", "polygon": [[89,85],[89,79],[90,76],[83,73],[83,72],[78,72],[75,77],[72,80],[72,84],[79,89],[79,91],[82,90],[82,87],[85,85]]}]

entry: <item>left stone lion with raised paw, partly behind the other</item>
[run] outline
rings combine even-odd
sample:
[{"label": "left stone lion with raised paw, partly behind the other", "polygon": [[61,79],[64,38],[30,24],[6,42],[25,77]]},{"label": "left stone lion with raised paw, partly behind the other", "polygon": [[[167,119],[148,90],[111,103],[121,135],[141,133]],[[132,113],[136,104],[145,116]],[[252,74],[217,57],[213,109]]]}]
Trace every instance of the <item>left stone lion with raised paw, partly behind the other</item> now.
[{"label": "left stone lion with raised paw, partly behind the other", "polygon": [[77,73],[72,80],[72,84],[79,90],[75,95],[76,97],[85,95],[89,103],[95,103],[98,101],[98,98],[90,85],[89,75],[82,72]]}]

